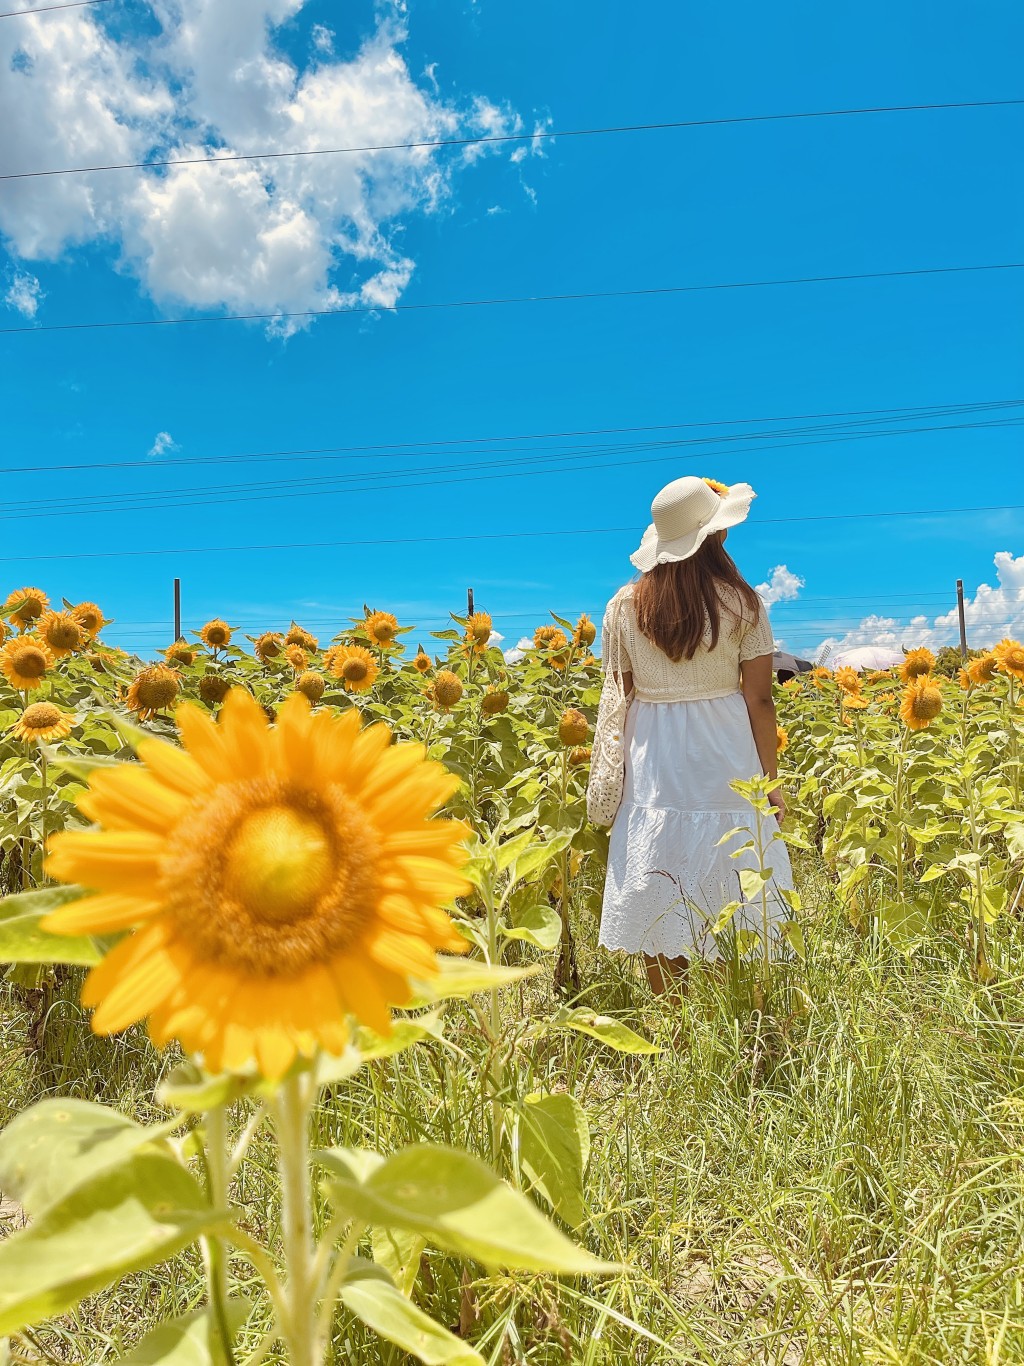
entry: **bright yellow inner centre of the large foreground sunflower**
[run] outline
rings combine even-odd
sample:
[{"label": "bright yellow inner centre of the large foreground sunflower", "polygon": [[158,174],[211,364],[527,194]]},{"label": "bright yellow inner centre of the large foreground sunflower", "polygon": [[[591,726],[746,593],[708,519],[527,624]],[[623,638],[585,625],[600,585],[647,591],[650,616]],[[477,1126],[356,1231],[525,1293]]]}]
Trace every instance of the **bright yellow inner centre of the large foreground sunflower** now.
[{"label": "bright yellow inner centre of the large foreground sunflower", "polygon": [[246,817],[224,872],[255,919],[287,923],[309,914],[330,877],[330,847],[315,817],[287,806]]}]

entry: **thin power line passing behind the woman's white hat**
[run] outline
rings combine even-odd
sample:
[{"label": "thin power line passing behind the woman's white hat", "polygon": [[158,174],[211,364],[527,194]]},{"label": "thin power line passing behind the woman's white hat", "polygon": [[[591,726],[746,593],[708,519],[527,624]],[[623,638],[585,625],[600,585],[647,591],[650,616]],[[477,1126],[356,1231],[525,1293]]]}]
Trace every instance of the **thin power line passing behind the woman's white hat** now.
[{"label": "thin power line passing behind the woman's white hat", "polygon": [[[892,516],[967,516],[975,512],[1024,512],[1024,503],[999,503],[968,508],[908,508],[883,512],[823,512],[811,516],[748,518],[748,526],[784,526],[795,522],[866,522]],[[134,560],[154,555],[238,555],[250,550],[339,550],[382,545],[452,545],[468,541],[527,541],[560,535],[638,534],[632,526],[553,527],[543,531],[483,531],[470,535],[399,535],[371,541],[289,541],[279,545],[197,545],[146,550],[86,550],[79,555],[4,555],[0,564],[38,564],[44,560]]]}]

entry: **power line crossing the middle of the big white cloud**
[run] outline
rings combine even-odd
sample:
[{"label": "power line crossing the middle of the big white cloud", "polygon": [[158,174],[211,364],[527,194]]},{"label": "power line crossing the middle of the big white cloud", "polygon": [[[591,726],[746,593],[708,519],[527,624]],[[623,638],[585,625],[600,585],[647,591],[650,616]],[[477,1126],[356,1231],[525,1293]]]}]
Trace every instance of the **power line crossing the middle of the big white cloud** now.
[{"label": "power line crossing the middle of the big white cloud", "polygon": [[[56,7],[55,7],[56,8]],[[68,8],[72,8],[68,5]],[[26,11],[29,12],[29,11]],[[12,15],[0,15],[12,18]],[[958,100],[946,104],[886,104],[857,109],[801,109],[795,113],[745,113],[721,119],[673,119],[666,123],[621,123],[595,128],[534,128],[532,133],[487,133],[475,138],[423,138],[419,142],[377,142],[360,148],[298,148],[291,152],[229,152],[214,157],[168,157],[153,161],[117,161],[108,165],[61,167],[53,171],[14,171],[0,180],[33,180],[56,175],[97,175],[105,171],[154,171],[165,167],[213,167],[238,161],[280,161],[291,157],[336,157],[371,152],[421,152],[437,148],[475,148],[485,143],[538,142],[541,138],[597,138],[627,133],[669,133],[680,128],[718,128],[745,123],[791,123],[807,119],[849,119],[877,113],[927,113],[938,109],[998,109],[1024,100]]]}]

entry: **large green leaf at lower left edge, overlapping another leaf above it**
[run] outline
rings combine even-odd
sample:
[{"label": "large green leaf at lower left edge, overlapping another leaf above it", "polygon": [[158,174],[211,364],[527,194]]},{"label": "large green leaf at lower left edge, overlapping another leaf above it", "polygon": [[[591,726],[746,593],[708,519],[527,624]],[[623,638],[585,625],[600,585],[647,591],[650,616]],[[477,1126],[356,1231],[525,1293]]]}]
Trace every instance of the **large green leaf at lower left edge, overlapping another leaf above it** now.
[{"label": "large green leaf at lower left edge, overlapping another leaf above it", "polygon": [[131,1153],[0,1243],[0,1333],[63,1314],[229,1220],[173,1158]]}]

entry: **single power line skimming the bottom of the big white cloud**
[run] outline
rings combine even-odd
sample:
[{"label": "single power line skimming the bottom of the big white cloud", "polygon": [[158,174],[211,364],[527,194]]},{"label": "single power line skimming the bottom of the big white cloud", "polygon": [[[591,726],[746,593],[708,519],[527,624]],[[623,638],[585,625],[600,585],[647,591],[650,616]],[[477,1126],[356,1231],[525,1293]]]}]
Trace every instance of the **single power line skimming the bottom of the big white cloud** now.
[{"label": "single power line skimming the bottom of the big white cloud", "polygon": [[0,336],[41,332],[97,332],[112,328],[175,328],[198,322],[279,322],[284,318],[326,318],[340,314],[433,313],[441,309],[493,309],[511,303],[575,303],[582,299],[638,299],[679,294],[714,294],[724,290],[767,290],[793,284],[842,284],[853,280],[901,280],[935,275],[976,275],[990,270],[1021,270],[1024,261],[1001,261],[991,265],[939,265],[913,270],[864,270],[856,275],[810,275],[780,280],[726,280],[715,284],[672,284],[647,290],[593,290],[579,294],[523,294],[494,299],[446,299],[436,303],[378,303],[371,307],[302,309],[280,313],[199,313],[183,318],[132,318],[105,322],[45,322],[41,326],[0,328]]}]

